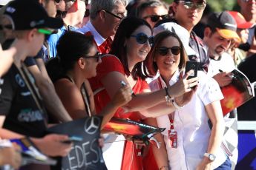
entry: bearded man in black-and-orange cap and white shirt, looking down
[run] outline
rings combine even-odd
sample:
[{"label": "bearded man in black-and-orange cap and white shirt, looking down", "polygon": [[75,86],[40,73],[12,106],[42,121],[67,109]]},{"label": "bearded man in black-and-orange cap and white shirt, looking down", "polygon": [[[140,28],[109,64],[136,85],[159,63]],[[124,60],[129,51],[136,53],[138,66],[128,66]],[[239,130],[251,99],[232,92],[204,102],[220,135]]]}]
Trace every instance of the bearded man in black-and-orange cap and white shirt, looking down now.
[{"label": "bearded man in black-and-orange cap and white shirt, looking down", "polygon": [[[208,47],[208,56],[210,58],[208,75],[213,77],[220,87],[226,86],[232,82],[230,72],[235,69],[235,66],[232,56],[226,51],[229,49],[232,41],[240,41],[236,30],[237,24],[234,18],[224,11],[211,14],[204,31],[203,42]],[[227,114],[224,120],[226,123],[224,139],[227,143],[225,149],[228,149],[226,153],[232,160],[232,168],[234,169],[238,157],[237,119],[234,111]]]}]

